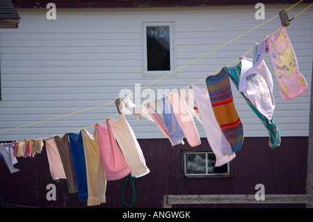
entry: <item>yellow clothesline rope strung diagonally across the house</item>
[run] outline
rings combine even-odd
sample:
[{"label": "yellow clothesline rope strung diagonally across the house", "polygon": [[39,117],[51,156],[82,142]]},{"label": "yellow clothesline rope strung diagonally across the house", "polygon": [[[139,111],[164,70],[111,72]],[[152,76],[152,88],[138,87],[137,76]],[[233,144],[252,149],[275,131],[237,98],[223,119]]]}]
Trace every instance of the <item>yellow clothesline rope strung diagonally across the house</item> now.
[{"label": "yellow clothesline rope strung diagonally across the house", "polygon": [[[300,1],[298,1],[298,3],[302,2],[302,1],[303,1],[303,0],[300,0]],[[298,3],[295,3],[293,6],[287,8],[286,10],[284,10],[284,12],[287,12],[287,11],[290,10],[291,8],[294,8],[294,6],[298,5]],[[310,8],[311,6],[312,6],[312,4],[311,4],[310,6],[308,6],[307,8]],[[307,8],[305,8],[305,9],[302,10],[300,13],[298,13],[298,15],[300,15],[300,14],[303,13],[305,10],[307,10]],[[298,15],[296,15],[295,17],[297,17]],[[153,81],[153,82],[150,83],[150,84],[147,84],[147,86],[143,86],[142,88],[140,88],[140,89],[138,89],[138,90],[143,90],[144,88],[147,88],[148,86],[151,86],[152,84],[156,83],[157,81],[160,81],[161,79],[164,79],[164,78],[168,77],[170,74],[173,74],[173,73],[175,73],[175,72],[181,70],[182,68],[185,68],[186,66],[191,65],[191,63],[194,63],[195,61],[198,61],[200,58],[203,58],[204,56],[207,56],[207,55],[211,54],[212,52],[214,52],[214,51],[220,49],[221,47],[223,47],[223,46],[229,44],[230,42],[233,42],[234,40],[236,40],[236,39],[238,39],[238,38],[241,38],[243,35],[246,35],[246,33],[249,33],[250,31],[253,31],[253,30],[257,29],[259,26],[262,26],[263,24],[266,24],[267,22],[270,22],[271,20],[275,19],[275,18],[278,17],[278,16],[279,16],[279,15],[275,15],[274,17],[272,17],[271,19],[268,19],[267,21],[263,22],[262,24],[259,24],[259,25],[255,26],[254,28],[252,28],[252,29],[246,31],[245,33],[242,33],[241,35],[238,35],[236,38],[233,38],[232,40],[230,40],[230,41],[228,41],[228,42],[225,42],[223,45],[220,45],[219,47],[216,47],[215,49],[213,49],[213,50],[207,52],[206,54],[204,54],[204,55],[202,55],[202,56],[196,58],[195,60],[193,60],[193,61],[187,63],[186,65],[183,65],[182,67],[178,68],[177,70],[174,70],[174,71],[172,71],[172,72],[170,72],[170,73],[164,75],[163,77],[161,77],[161,78],[159,78],[159,79]],[[250,49],[248,52],[250,52],[251,50],[252,50],[252,49]],[[247,52],[247,53],[248,53],[248,52]],[[247,54],[247,53],[246,53],[246,54]],[[237,60],[237,59],[238,59],[238,58],[236,58],[236,60]],[[236,60],[235,60],[235,61],[236,61]],[[232,63],[234,63],[234,61],[233,61]],[[230,64],[232,64],[232,63],[230,63]],[[218,71],[217,71],[217,72],[218,72]],[[215,72],[215,73],[216,73],[216,72]],[[203,80],[204,80],[204,79],[202,79],[202,80],[200,80],[200,81],[203,81]],[[198,82],[195,83],[195,84],[198,84],[200,81],[198,81]],[[194,84],[193,84],[193,85],[194,85]],[[136,90],[134,93],[138,92],[138,90]],[[130,95],[132,95],[132,94],[134,94],[134,93],[131,93]],[[46,119],[46,120],[40,120],[40,121],[38,121],[38,122],[32,122],[32,123],[30,123],[30,124],[22,125],[22,126],[19,126],[19,127],[13,127],[13,128],[11,128],[11,129],[3,130],[3,131],[1,131],[0,133],[8,132],[8,131],[10,131],[10,130],[19,129],[19,128],[23,128],[23,127],[29,127],[29,126],[31,126],[31,125],[35,125],[35,124],[38,124],[38,123],[41,123],[41,122],[47,122],[47,121],[49,121],[49,120],[55,120],[55,119],[57,119],[57,118],[62,118],[62,117],[65,117],[65,116],[70,116],[70,115],[73,115],[73,114],[76,114],[76,113],[81,113],[81,112],[83,112],[83,111],[88,111],[88,110],[90,110],[90,109],[96,109],[96,108],[99,108],[99,107],[102,107],[102,106],[106,106],[106,105],[109,105],[109,104],[114,104],[114,102],[108,102],[108,103],[106,103],[106,104],[102,104],[102,105],[99,105],[99,106],[93,106],[93,107],[90,107],[90,108],[88,108],[88,109],[83,109],[83,110],[81,110],[81,111],[75,111],[75,112],[73,112],[73,113],[67,113],[67,114],[64,114],[64,115],[61,115],[61,116],[56,116],[56,117],[54,117],[54,118],[49,118],[49,119]],[[115,115],[111,116],[111,118],[114,117],[114,116],[117,116],[117,115],[118,115],[118,113],[116,113]],[[102,122],[104,122],[104,121],[105,121],[105,120],[102,120]],[[93,125],[91,125],[90,127],[93,127]],[[87,127],[87,128],[89,128],[89,127]],[[78,132],[78,131],[79,131],[79,130],[74,131],[74,132]]]}]

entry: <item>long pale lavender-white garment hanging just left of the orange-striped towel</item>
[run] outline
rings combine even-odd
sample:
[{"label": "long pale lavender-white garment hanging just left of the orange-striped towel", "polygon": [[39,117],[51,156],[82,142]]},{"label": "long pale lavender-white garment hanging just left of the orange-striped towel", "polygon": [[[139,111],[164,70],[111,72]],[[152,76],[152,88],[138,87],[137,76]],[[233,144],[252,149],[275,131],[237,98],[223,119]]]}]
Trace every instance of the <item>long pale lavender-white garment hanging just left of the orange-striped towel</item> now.
[{"label": "long pale lavender-white garment hanging just left of the orange-striped towel", "polygon": [[230,143],[216,121],[207,88],[202,89],[194,85],[191,88],[193,89],[195,103],[198,107],[207,141],[209,141],[209,145],[216,156],[215,166],[227,164],[236,157],[236,154],[232,152]]}]

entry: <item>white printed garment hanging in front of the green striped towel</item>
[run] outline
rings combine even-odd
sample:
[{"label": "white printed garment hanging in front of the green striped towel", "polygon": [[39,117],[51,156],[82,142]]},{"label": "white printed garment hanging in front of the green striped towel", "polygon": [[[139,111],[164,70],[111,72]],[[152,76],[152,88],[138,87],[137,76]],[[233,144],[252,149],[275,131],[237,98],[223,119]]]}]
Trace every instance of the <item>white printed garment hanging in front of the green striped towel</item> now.
[{"label": "white printed garment hanging in front of the green striped towel", "polygon": [[273,79],[264,61],[253,67],[250,58],[241,57],[239,91],[248,97],[262,115],[271,120],[275,109]]}]

